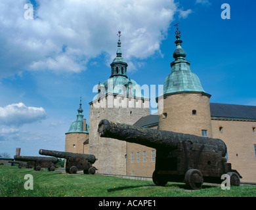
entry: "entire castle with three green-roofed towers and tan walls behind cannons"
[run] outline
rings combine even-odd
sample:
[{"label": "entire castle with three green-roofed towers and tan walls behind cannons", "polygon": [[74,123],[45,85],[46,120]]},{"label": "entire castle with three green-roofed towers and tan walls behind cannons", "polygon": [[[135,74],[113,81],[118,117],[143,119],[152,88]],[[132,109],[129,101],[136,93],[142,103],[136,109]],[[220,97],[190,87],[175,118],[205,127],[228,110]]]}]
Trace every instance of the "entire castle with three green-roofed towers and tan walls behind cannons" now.
[{"label": "entire castle with three green-roofed towers and tan walls behind cannons", "polygon": [[109,119],[140,127],[150,127],[203,137],[221,138],[228,148],[228,162],[236,168],[242,182],[256,181],[256,106],[210,103],[200,79],[190,70],[182,49],[180,31],[171,62],[171,73],[165,77],[163,93],[156,98],[161,112],[150,115],[150,98],[142,95],[140,86],[127,77],[127,63],[121,53],[118,32],[116,58],[110,64],[110,78],[98,83],[98,94],[89,103],[89,123],[83,110],[66,133],[66,152],[94,154],[98,173],[152,177],[156,150],[98,135],[98,123]]}]

